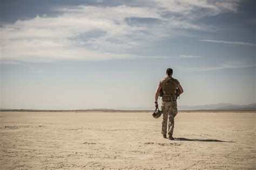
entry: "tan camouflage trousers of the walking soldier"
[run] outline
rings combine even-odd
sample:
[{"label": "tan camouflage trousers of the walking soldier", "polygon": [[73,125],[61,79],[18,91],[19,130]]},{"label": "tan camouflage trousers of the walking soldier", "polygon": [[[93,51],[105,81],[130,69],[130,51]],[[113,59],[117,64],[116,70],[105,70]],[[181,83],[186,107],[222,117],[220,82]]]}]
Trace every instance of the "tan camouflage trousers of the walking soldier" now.
[{"label": "tan camouflage trousers of the walking soldier", "polygon": [[174,117],[178,114],[176,96],[170,102],[162,101],[161,111],[163,113],[162,134],[167,133],[167,119],[169,118],[168,134],[173,134]]}]

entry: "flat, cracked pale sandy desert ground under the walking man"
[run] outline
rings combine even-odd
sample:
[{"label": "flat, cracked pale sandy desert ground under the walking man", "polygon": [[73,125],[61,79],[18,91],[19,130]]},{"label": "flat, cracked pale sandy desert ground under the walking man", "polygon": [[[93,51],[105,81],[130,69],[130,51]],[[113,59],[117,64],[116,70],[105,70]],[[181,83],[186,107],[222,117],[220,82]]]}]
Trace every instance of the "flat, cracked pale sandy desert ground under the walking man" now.
[{"label": "flat, cracked pale sandy desert ground under the walking man", "polygon": [[256,168],[255,113],[1,112],[0,169]]}]

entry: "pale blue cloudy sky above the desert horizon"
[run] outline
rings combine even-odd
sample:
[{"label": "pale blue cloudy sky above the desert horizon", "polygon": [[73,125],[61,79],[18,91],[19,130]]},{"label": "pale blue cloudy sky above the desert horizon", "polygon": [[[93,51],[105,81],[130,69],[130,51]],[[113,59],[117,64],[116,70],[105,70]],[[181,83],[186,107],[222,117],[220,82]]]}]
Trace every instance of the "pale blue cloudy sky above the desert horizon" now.
[{"label": "pale blue cloudy sky above the desert horizon", "polygon": [[1,0],[0,108],[153,107],[167,68],[178,105],[256,103],[255,6]]}]

